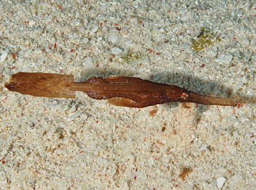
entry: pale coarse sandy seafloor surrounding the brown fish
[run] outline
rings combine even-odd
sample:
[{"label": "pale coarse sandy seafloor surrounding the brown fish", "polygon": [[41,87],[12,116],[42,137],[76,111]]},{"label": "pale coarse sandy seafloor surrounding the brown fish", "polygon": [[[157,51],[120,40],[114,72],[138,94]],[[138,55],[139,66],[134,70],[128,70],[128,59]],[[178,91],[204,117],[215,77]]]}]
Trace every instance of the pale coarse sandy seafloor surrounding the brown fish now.
[{"label": "pale coarse sandy seafloor surrounding the brown fish", "polygon": [[134,109],[4,87],[122,75],[252,101],[255,51],[255,1],[1,1],[0,188],[256,189],[254,103]]}]

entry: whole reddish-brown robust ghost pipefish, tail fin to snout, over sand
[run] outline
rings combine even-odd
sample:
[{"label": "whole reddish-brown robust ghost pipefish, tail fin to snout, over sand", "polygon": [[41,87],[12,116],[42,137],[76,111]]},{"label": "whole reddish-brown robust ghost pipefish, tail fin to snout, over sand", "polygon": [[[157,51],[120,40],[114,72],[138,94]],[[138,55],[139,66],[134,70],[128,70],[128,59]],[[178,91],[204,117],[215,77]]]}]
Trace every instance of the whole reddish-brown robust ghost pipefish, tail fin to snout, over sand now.
[{"label": "whole reddish-brown robust ghost pipefish, tail fin to snout, over sand", "polygon": [[92,76],[77,83],[73,75],[19,72],[12,75],[5,87],[21,94],[52,98],[75,98],[75,92],[82,91],[91,98],[125,107],[147,107],[174,101],[235,107],[241,101],[237,97],[205,96],[175,85],[128,76]]}]

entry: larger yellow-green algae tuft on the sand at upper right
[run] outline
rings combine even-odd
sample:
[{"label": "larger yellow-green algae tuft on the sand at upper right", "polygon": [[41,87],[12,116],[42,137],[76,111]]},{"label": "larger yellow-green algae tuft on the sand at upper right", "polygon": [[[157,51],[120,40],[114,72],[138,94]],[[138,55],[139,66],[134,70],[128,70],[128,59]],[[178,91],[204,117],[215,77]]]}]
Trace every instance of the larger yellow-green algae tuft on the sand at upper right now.
[{"label": "larger yellow-green algae tuft on the sand at upper right", "polygon": [[203,50],[205,47],[208,47],[212,43],[220,41],[219,36],[217,36],[217,34],[210,32],[210,30],[206,30],[204,27],[201,28],[201,32],[197,36],[197,38],[197,40],[192,41],[191,47],[192,50],[194,50],[194,52],[196,53]]}]

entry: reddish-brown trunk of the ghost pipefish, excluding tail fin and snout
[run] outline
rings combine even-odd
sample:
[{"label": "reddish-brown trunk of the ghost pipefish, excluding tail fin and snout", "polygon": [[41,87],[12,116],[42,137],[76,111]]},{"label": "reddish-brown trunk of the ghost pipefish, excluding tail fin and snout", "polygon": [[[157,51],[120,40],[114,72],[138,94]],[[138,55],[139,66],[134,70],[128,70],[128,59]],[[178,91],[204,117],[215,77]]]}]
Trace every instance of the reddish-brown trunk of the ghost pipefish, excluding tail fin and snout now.
[{"label": "reddish-brown trunk of the ghost pipefish, excluding tail fin and snout", "polygon": [[93,76],[86,82],[75,83],[71,89],[86,92],[91,98],[107,99],[114,105],[122,105],[122,101],[127,99],[124,103],[129,103],[129,107],[169,103],[180,98],[183,92],[188,92],[180,87],[127,76]]}]

